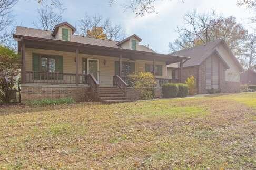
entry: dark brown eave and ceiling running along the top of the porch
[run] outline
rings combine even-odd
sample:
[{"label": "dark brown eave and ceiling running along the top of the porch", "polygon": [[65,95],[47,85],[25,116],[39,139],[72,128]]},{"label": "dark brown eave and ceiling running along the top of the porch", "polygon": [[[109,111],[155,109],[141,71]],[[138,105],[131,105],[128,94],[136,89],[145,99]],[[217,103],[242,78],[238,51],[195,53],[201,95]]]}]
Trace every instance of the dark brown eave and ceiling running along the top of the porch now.
[{"label": "dark brown eave and ceiling running along the top of the porch", "polygon": [[[14,35],[14,38],[20,38],[21,36]],[[188,60],[189,57],[181,57],[175,55],[165,55],[154,52],[145,52],[145,51],[135,51],[129,49],[119,49],[112,47],[104,46],[95,46],[88,44],[80,44],[77,42],[66,42],[53,39],[44,39],[44,38],[35,38],[23,36],[23,41],[26,43],[27,48],[38,48],[38,49],[47,49],[47,50],[56,50],[56,51],[65,51],[65,52],[76,52],[78,48],[79,52],[82,54],[91,54],[91,55],[101,55],[101,56],[111,56],[111,57],[120,57],[129,58],[131,60],[156,60],[166,62],[166,64],[181,62],[182,60]]]}]

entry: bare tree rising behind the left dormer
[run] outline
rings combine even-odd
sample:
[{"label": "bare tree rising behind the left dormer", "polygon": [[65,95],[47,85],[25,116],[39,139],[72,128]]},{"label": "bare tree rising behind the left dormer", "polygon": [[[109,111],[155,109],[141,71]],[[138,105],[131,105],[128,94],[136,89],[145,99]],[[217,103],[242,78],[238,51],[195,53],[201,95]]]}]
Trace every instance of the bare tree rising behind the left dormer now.
[{"label": "bare tree rising behind the left dormer", "polygon": [[38,21],[33,24],[39,29],[53,30],[54,26],[62,21],[63,11],[64,9],[55,9],[52,6],[37,9]]}]

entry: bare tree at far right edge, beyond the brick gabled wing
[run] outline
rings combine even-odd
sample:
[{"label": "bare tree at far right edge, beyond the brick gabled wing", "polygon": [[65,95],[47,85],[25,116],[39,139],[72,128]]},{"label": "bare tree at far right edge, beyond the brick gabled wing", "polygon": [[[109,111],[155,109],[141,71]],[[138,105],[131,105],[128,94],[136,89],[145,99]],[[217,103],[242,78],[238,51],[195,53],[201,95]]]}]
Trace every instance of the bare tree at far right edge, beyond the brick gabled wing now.
[{"label": "bare tree at far right edge, beyond the brick gabled wing", "polygon": [[256,66],[256,35],[248,35],[248,40],[244,44],[243,63],[248,70],[253,70]]}]

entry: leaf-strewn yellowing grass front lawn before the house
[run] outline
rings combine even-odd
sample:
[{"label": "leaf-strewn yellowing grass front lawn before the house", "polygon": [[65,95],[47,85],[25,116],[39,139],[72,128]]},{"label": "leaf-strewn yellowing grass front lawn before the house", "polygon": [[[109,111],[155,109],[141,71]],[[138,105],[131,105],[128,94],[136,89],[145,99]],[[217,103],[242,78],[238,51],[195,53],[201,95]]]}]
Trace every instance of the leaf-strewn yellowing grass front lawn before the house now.
[{"label": "leaf-strewn yellowing grass front lawn before the house", "polygon": [[255,168],[256,93],[0,109],[0,169]]}]

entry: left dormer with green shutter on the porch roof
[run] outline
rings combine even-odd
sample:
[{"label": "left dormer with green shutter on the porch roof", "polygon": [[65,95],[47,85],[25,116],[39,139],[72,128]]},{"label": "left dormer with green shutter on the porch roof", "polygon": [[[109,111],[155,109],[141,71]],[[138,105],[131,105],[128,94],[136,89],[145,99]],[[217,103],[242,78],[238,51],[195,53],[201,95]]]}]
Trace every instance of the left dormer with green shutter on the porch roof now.
[{"label": "left dormer with green shutter on the porch roof", "polygon": [[71,41],[71,35],[75,33],[75,27],[68,22],[63,22],[54,26],[52,36],[57,40]]}]

